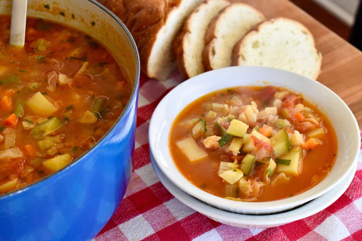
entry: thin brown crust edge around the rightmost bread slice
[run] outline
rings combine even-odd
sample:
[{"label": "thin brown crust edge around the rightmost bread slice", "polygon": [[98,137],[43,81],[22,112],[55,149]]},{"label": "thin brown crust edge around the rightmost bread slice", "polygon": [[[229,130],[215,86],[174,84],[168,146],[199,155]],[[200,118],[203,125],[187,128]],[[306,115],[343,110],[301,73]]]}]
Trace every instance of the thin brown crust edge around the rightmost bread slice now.
[{"label": "thin brown crust edge around the rightmost bread slice", "polygon": [[258,34],[260,32],[260,30],[262,29],[263,26],[265,25],[269,25],[269,24],[273,24],[274,22],[276,21],[290,21],[290,22],[293,22],[294,24],[298,25],[301,29],[303,29],[304,31],[306,31],[306,34],[307,35],[310,35],[311,36],[311,39],[313,41],[313,46],[314,46],[314,50],[315,50],[315,53],[316,55],[319,56],[319,66],[318,66],[318,69],[319,71],[315,74],[314,78],[313,79],[317,79],[317,77],[319,76],[319,74],[321,73],[321,65],[322,65],[322,60],[323,60],[323,57],[321,55],[320,52],[318,52],[318,50],[316,49],[315,47],[315,40],[314,40],[314,37],[311,33],[311,31],[309,31],[307,29],[306,26],[304,26],[302,23],[296,21],[296,20],[292,20],[292,19],[289,19],[289,18],[283,18],[283,17],[279,17],[279,18],[273,18],[273,19],[270,19],[270,20],[265,20],[259,24],[257,24],[256,26],[254,26],[254,28],[249,31],[249,33],[245,34],[245,36],[240,39],[236,44],[235,46],[233,47],[233,51],[232,51],[232,65],[235,66],[235,65],[239,65],[239,59],[240,59],[240,49],[245,45],[245,42],[247,42],[248,38],[251,38],[252,35],[254,34]]}]

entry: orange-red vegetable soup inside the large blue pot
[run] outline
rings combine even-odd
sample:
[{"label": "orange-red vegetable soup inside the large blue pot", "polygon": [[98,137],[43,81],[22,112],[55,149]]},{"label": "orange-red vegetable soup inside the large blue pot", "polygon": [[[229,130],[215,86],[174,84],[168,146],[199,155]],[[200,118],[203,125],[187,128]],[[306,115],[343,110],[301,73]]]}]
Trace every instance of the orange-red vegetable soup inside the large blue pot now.
[{"label": "orange-red vegetable soup inside the large blue pot", "polygon": [[73,162],[118,119],[131,86],[101,44],[28,18],[24,48],[0,16],[0,194]]}]

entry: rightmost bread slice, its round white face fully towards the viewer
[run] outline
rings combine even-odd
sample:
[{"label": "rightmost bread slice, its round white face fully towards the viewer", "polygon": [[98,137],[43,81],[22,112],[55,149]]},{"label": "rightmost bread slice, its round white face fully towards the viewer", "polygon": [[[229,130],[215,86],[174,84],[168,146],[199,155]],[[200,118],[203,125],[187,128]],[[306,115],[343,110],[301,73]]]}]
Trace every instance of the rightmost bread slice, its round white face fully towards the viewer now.
[{"label": "rightmost bread slice, its round white face fully towards the viewer", "polygon": [[301,23],[275,18],[257,26],[233,50],[233,65],[256,65],[289,70],[316,79],[322,55],[313,35]]}]

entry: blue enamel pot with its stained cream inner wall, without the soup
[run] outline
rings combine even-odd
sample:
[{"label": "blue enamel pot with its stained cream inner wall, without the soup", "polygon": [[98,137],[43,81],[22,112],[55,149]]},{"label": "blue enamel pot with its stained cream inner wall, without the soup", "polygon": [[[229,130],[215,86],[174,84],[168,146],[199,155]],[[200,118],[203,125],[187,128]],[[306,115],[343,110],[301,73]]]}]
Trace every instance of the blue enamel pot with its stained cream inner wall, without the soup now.
[{"label": "blue enamel pot with its stained cream inner wall, without the soup", "polygon": [[[122,66],[133,90],[117,122],[90,150],[60,171],[0,196],[0,240],[90,240],[111,218],[130,179],[139,88],[138,52],[125,25],[96,1],[39,2],[28,0],[28,16],[73,26],[99,40]],[[39,7],[43,4],[49,4],[50,9]],[[55,12],[62,9],[66,16],[53,15],[54,5],[58,8]],[[0,14],[10,11],[11,1],[0,0]]]}]

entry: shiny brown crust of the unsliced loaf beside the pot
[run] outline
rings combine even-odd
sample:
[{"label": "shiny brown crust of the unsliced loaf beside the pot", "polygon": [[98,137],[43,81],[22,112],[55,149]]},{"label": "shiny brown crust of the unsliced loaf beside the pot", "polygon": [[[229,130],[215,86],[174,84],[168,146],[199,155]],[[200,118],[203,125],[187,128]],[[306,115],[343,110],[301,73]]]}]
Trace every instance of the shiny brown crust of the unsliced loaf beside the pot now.
[{"label": "shiny brown crust of the unsliced loaf beside the pot", "polygon": [[[141,70],[147,76],[153,44],[167,17],[182,0],[98,0],[117,15],[131,32],[140,56]],[[153,76],[149,76],[153,77]]]}]

